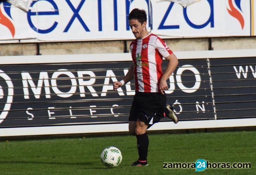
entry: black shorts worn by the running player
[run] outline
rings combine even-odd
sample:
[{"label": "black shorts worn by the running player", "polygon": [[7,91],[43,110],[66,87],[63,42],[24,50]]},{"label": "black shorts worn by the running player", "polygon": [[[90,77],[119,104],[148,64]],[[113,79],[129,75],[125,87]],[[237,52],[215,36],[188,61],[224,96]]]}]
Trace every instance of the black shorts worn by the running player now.
[{"label": "black shorts worn by the running player", "polygon": [[135,92],[129,121],[140,119],[146,125],[152,126],[164,117],[166,95],[160,92]]}]

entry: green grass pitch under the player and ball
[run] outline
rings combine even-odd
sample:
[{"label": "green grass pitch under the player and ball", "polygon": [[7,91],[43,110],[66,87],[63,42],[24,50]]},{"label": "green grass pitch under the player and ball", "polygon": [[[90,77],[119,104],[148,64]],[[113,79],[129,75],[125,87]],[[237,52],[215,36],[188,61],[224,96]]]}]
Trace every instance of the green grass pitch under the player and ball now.
[{"label": "green grass pitch under the player and ball", "polygon": [[[190,134],[149,133],[148,167],[131,167],[138,158],[130,135],[6,140],[0,138],[0,174],[256,174],[256,131]],[[100,160],[105,147],[118,147],[123,160],[107,168]],[[250,162],[249,169],[163,169],[163,162]]]}]

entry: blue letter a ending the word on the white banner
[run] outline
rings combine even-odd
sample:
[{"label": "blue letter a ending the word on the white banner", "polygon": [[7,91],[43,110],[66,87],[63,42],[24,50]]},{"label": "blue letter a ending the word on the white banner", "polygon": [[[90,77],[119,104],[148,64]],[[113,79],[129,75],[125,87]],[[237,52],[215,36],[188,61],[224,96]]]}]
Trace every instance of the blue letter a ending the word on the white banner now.
[{"label": "blue letter a ending the word on the white banner", "polygon": [[183,8],[183,15],[184,15],[184,19],[186,20],[186,22],[188,23],[188,25],[190,27],[193,27],[195,29],[201,29],[201,28],[204,28],[206,27],[209,23],[211,24],[211,27],[214,27],[214,10],[213,10],[213,0],[207,0],[209,5],[210,5],[210,16],[209,16],[209,19],[203,23],[202,25],[195,25],[194,23],[192,23],[189,19],[188,19],[188,15],[187,15],[187,7],[186,8]]}]

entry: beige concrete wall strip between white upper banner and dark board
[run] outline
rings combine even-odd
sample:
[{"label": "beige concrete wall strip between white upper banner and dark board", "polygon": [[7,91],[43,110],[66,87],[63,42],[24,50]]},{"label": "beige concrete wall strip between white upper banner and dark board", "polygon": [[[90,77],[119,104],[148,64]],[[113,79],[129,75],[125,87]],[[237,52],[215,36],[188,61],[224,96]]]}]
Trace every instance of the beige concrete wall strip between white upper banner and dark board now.
[{"label": "beige concrete wall strip between white upper banner and dark board", "polygon": [[[176,38],[165,39],[173,51],[256,49],[256,37]],[[51,43],[0,44],[0,56],[103,54],[130,52],[128,41],[84,41]],[[38,47],[39,46],[39,47]]]}]

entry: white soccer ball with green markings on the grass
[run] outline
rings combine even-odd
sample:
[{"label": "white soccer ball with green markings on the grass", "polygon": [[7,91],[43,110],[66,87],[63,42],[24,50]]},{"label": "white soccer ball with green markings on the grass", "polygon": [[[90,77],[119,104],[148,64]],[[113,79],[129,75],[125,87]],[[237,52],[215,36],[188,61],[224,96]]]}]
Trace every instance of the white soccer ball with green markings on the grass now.
[{"label": "white soccer ball with green markings on the grass", "polygon": [[118,166],[122,161],[121,151],[113,146],[105,148],[100,157],[103,165],[109,168]]}]

